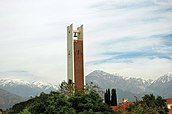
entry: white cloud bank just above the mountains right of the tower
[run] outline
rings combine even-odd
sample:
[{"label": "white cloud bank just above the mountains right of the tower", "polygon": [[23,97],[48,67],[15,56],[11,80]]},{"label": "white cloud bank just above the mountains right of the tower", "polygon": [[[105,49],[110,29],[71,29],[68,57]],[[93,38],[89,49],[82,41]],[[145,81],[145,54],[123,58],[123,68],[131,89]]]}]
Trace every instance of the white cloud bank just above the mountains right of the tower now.
[{"label": "white cloud bank just above the mountains right of the tower", "polygon": [[118,73],[125,77],[138,77],[145,79],[157,79],[159,76],[171,72],[172,61],[168,59],[148,59],[138,58],[134,62],[111,62],[91,65],[87,67],[87,72],[96,69],[104,70],[110,73]]}]

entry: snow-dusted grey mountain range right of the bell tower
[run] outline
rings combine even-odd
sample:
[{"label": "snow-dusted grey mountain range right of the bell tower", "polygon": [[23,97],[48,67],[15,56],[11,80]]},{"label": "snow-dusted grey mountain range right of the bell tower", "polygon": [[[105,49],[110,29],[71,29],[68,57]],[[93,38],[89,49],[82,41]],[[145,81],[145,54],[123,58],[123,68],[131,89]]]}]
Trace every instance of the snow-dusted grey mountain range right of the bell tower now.
[{"label": "snow-dusted grey mountain range right of the bell tower", "polygon": [[[157,80],[145,80],[141,78],[123,77],[119,74],[109,74],[104,71],[96,70],[86,76],[86,83],[100,86],[103,90],[116,88],[119,100],[129,96],[141,96],[146,93],[161,95],[162,97],[172,96],[172,75],[168,73]],[[132,99],[132,98],[130,98]]]}]

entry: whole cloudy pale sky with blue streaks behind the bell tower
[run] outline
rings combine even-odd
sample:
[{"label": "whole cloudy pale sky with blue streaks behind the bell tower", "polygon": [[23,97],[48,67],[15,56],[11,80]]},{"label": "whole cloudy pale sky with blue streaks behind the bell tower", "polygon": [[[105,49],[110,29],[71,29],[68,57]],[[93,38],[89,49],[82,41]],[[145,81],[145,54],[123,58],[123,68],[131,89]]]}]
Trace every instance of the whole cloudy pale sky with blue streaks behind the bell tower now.
[{"label": "whole cloudy pale sky with blue streaks behind the bell tower", "polygon": [[66,80],[73,23],[84,25],[85,75],[157,79],[172,72],[171,20],[171,0],[1,0],[0,78]]}]

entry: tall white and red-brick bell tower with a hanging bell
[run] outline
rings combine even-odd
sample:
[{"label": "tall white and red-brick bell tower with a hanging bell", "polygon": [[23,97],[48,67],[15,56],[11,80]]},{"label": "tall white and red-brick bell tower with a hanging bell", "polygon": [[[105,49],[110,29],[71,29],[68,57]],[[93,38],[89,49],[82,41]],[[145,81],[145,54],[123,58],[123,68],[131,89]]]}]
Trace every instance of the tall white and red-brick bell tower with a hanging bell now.
[{"label": "tall white and red-brick bell tower with a hanging bell", "polygon": [[[76,39],[74,39],[76,37]],[[76,90],[84,89],[83,25],[73,30],[67,27],[67,75],[75,83]]]}]

